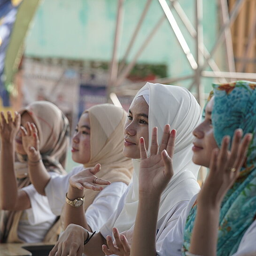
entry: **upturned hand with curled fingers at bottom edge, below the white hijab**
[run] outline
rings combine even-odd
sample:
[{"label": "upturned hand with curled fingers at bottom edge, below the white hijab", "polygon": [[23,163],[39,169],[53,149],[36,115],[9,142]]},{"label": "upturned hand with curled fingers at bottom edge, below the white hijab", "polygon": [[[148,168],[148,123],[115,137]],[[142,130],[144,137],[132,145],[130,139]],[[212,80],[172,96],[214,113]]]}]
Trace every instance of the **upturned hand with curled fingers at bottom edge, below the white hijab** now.
[{"label": "upturned hand with curled fingers at bottom edge, below the white hijab", "polygon": [[109,256],[116,254],[118,256],[130,256],[131,240],[128,242],[124,233],[126,233],[126,231],[119,234],[117,228],[113,228],[115,241],[112,241],[111,236],[107,236],[107,245],[109,248],[104,244],[102,245],[102,251],[105,253],[105,255]]}]

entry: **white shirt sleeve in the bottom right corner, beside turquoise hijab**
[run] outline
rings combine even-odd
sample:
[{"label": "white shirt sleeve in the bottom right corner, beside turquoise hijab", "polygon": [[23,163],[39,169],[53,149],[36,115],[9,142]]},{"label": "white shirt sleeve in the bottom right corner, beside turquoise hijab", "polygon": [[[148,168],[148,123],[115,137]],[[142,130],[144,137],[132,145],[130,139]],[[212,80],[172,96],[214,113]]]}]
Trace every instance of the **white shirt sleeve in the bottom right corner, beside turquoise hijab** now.
[{"label": "white shirt sleeve in the bottom right corner, beside turquoise hijab", "polygon": [[256,255],[256,220],[249,226],[243,235],[238,250],[233,256],[255,256]]}]

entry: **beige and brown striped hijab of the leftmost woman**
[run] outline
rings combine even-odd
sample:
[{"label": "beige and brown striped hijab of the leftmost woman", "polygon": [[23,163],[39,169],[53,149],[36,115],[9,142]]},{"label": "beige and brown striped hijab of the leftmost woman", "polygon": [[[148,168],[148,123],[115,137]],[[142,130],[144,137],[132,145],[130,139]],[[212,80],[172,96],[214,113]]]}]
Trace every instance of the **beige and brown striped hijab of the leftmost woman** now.
[{"label": "beige and brown striped hijab of the leftmost woman", "polygon": [[[55,171],[64,174],[66,153],[69,145],[69,122],[53,103],[48,101],[35,101],[19,113],[28,112],[35,123],[39,133],[39,151],[47,171]],[[27,156],[17,154],[15,172],[18,189],[31,184],[28,177]],[[17,227],[23,211],[2,211],[0,218],[1,242],[22,242],[17,236]],[[55,233],[55,228],[54,233]],[[47,235],[53,237],[52,229]],[[57,236],[55,235],[54,240]],[[47,240],[46,240],[47,241]]]}]

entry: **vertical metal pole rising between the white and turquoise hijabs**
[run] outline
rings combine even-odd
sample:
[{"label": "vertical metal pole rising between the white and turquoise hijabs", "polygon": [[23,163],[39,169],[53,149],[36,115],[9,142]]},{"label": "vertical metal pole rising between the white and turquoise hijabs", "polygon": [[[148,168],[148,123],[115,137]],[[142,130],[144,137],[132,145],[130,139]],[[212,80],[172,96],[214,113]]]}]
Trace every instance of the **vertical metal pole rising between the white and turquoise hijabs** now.
[{"label": "vertical metal pole rising between the white and turquoise hijabs", "polygon": [[194,83],[197,86],[197,101],[200,106],[203,104],[203,87],[201,82],[201,68],[203,64],[203,55],[200,51],[203,44],[203,27],[202,27],[202,0],[195,0],[195,21],[196,21],[196,61],[197,69],[194,70],[195,78]]}]

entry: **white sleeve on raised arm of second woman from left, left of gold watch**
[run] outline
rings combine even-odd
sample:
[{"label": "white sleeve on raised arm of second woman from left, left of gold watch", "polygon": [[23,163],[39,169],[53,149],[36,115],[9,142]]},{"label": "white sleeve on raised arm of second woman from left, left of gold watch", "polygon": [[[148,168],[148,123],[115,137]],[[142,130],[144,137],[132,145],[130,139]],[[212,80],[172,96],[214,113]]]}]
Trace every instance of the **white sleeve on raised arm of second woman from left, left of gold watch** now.
[{"label": "white sleeve on raised arm of second woman from left, left of gold watch", "polygon": [[49,180],[47,186],[45,187],[45,194],[48,198],[51,210],[55,215],[61,215],[62,207],[66,202],[66,193],[68,192],[70,177],[83,169],[83,165],[78,165],[74,167],[67,175],[58,174],[51,177]]}]

